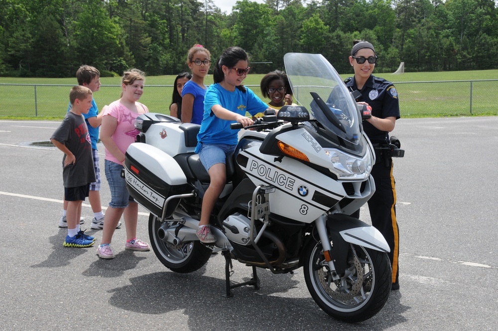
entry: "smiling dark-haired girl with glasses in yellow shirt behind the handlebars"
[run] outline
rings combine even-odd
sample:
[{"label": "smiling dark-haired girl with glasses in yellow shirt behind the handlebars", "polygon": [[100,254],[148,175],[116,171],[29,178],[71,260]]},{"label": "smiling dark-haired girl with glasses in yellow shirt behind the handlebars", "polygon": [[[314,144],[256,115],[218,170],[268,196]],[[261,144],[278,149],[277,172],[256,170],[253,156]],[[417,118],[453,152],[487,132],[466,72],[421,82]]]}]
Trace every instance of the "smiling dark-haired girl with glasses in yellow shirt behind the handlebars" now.
[{"label": "smiling dark-haired girl with glasses in yellow shirt behind the handlebars", "polygon": [[292,90],[285,72],[275,70],[267,73],[261,79],[259,88],[263,97],[270,99],[267,104],[271,108],[280,109],[285,105],[292,105]]}]

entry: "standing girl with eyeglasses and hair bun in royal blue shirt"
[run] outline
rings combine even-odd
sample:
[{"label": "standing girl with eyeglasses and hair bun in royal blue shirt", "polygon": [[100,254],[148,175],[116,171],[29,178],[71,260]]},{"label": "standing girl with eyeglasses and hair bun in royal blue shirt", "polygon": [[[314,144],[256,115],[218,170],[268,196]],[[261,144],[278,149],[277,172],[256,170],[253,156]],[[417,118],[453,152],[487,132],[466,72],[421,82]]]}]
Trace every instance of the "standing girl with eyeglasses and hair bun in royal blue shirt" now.
[{"label": "standing girl with eyeglasses and hair bun in royal blue shirt", "polygon": [[204,77],[211,65],[211,53],[202,45],[194,45],[187,53],[187,65],[192,71],[192,78],[183,85],[181,121],[201,124],[207,89]]}]

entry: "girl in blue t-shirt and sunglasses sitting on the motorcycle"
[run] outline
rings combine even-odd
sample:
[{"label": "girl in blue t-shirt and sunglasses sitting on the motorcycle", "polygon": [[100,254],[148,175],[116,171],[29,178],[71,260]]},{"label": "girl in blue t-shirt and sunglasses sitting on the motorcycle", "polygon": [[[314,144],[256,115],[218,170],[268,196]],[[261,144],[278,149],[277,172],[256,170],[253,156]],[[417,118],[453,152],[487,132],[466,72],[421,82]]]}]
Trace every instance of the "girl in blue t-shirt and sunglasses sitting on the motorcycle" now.
[{"label": "girl in blue t-shirt and sunglasses sitting on the motorcycle", "polygon": [[[251,125],[252,116],[268,109],[261,99],[242,85],[249,73],[249,56],[240,47],[229,47],[220,56],[204,98],[204,116],[197,135],[196,153],[208,170],[210,184],[202,200],[201,220],[197,237],[203,243],[213,243],[209,218],[227,181],[226,159],[237,146],[239,130],[231,130],[230,124],[239,122]],[[185,101],[184,101],[185,103]]]}]

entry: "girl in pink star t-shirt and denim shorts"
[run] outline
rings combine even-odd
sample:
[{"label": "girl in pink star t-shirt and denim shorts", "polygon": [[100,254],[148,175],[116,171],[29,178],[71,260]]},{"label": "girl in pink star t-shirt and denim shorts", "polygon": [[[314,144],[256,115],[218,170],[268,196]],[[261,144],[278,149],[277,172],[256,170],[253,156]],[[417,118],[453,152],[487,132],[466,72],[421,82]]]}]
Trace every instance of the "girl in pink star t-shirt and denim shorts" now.
[{"label": "girl in pink star t-shirt and denim shorts", "polygon": [[138,69],[126,71],[122,79],[121,99],[104,107],[100,139],[106,148],[106,177],[111,188],[111,202],[104,217],[102,242],[97,254],[103,259],[113,259],[111,240],[114,230],[124,215],[126,228],[125,249],[148,251],[149,245],[136,239],[138,204],[130,199],[126,182],[121,178],[124,153],[135,142],[138,131],[134,127],[138,115],[148,113],[147,107],[138,102],[143,93],[144,73]]}]

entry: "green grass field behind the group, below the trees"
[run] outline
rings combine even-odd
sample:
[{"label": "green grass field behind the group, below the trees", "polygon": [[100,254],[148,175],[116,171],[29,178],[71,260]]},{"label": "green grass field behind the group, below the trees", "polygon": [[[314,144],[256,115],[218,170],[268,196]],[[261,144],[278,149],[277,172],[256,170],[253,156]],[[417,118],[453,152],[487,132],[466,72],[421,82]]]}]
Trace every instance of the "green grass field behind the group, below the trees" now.
[{"label": "green grass field behind the group, below the trees", "polygon": [[[346,78],[351,75],[343,74],[341,77]],[[404,73],[403,75],[378,74],[376,76],[395,83],[400,100],[401,116],[405,118],[498,115],[497,103],[494,99],[498,94],[498,70],[416,72]],[[249,86],[259,97],[262,97],[259,91],[259,82],[262,77],[262,74],[249,74],[245,81],[245,85]],[[151,112],[169,114],[174,79],[175,76],[172,75],[147,77],[144,94],[140,101]],[[471,82],[469,80],[493,81],[472,82],[471,98]],[[212,81],[212,75],[206,77],[206,84],[210,84]],[[119,99],[121,78],[104,77],[101,82],[103,86],[94,96],[100,109]],[[32,84],[37,85],[35,87]],[[2,95],[0,119],[60,120],[66,113],[71,87],[46,85],[73,84],[77,84],[76,78],[0,77],[0,95]]]}]

